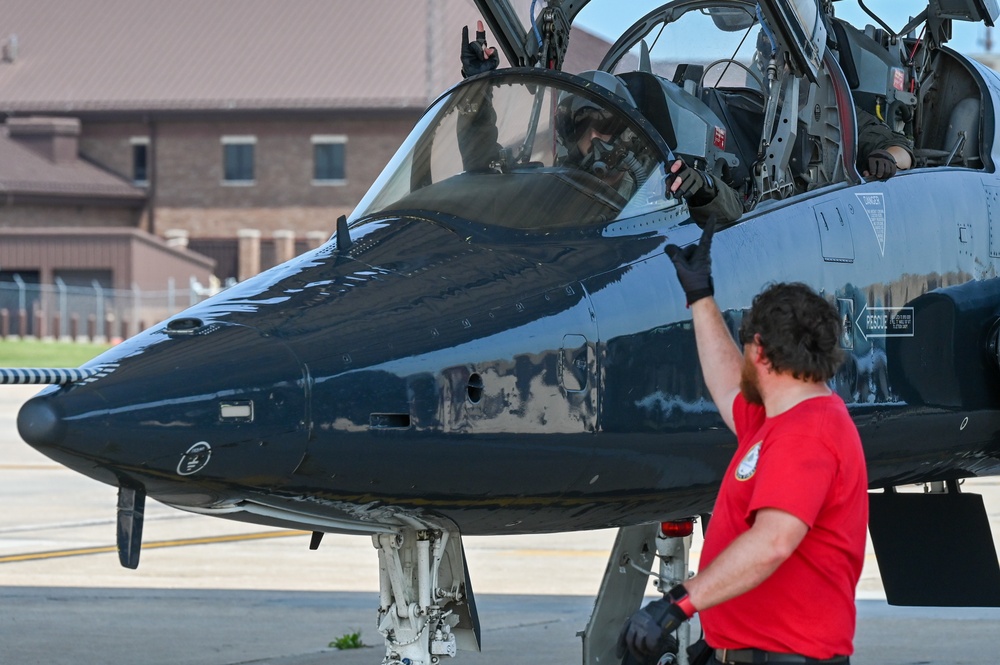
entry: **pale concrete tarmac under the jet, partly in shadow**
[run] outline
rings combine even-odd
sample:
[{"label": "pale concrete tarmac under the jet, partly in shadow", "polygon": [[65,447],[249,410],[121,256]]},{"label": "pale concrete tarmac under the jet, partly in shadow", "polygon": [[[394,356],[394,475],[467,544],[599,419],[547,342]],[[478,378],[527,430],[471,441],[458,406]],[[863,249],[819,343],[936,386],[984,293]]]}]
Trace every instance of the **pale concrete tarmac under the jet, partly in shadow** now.
[{"label": "pale concrete tarmac under the jet, partly in shadow", "polygon": [[[17,436],[17,409],[35,392],[0,387],[0,665],[381,662],[369,539],[327,536],[313,552],[303,534],[150,502],[142,563],[123,569],[114,553],[115,488],[55,464]],[[965,489],[986,497],[996,537],[1000,480]],[[614,536],[467,538],[483,652],[452,662],[579,663],[577,632]],[[890,607],[871,554],[857,605],[856,664],[983,663],[1000,651],[1000,609]],[[758,619],[766,614],[762,608]],[[372,646],[329,647],[356,631]]]}]

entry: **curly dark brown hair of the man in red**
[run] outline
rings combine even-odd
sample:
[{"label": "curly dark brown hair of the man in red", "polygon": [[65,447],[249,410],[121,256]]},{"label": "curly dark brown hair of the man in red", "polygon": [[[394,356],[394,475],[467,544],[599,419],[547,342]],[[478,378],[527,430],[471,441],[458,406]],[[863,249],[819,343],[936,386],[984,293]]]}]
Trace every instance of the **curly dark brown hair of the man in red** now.
[{"label": "curly dark brown hair of the man in red", "polygon": [[828,381],[844,361],[837,310],[801,282],[773,284],[753,299],[740,343],[756,341],[777,372]]}]

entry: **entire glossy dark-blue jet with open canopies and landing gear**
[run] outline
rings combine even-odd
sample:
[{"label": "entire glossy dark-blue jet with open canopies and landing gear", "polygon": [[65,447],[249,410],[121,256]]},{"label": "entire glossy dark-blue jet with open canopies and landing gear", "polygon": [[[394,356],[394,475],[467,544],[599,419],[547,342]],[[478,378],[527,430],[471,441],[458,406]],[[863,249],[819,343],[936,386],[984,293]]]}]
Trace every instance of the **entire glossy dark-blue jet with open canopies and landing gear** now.
[{"label": "entire glossy dark-blue jet with open canopies and landing gear", "polygon": [[[896,29],[826,0],[675,0],[583,77],[559,69],[586,0],[528,21],[478,4],[514,66],[435,101],[328,243],[82,368],[3,372],[57,384],[19,431],[120,488],[122,563],[146,497],[316,546],[364,534],[384,662],[429,665],[478,646],[461,536],[620,527],[584,644],[608,662],[652,563],[642,525],[710,513],[735,445],[663,252],[701,234],[665,195],[683,157],[745,201],[713,247],[734,331],[774,281],[843,316],[832,387],[890,602],[1000,604],[981,498],[959,491],[1000,474],[1000,78],[944,46],[995,0],[914,2]],[[685,43],[732,46],[658,56]],[[856,106],[912,137],[913,168],[859,172]],[[566,109],[604,121],[599,150]],[[914,483],[935,491],[894,491]]]}]

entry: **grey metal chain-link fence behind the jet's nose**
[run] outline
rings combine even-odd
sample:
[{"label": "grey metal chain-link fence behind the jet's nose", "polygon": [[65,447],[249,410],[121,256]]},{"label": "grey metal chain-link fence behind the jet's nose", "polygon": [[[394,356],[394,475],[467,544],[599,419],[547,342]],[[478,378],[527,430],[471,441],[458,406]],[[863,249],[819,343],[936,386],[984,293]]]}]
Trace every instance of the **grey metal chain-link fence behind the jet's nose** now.
[{"label": "grey metal chain-link fence behind the jet's nose", "polygon": [[195,305],[218,287],[197,280],[179,288],[168,280],[162,291],[90,286],[0,282],[0,339],[37,337],[114,342],[130,337]]}]

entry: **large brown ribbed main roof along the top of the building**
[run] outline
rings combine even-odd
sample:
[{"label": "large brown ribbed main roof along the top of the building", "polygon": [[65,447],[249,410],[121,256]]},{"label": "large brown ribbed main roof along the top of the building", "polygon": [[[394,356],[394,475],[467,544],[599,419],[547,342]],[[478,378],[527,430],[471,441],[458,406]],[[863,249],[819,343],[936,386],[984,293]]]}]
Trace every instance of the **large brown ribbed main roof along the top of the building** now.
[{"label": "large brown ribbed main roof along the top of the building", "polygon": [[[472,0],[0,0],[0,112],[422,109],[478,18]],[[566,69],[607,47],[571,40]]]}]

